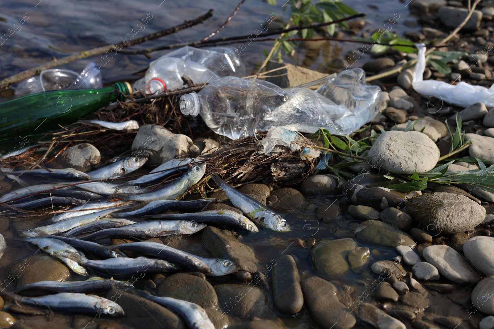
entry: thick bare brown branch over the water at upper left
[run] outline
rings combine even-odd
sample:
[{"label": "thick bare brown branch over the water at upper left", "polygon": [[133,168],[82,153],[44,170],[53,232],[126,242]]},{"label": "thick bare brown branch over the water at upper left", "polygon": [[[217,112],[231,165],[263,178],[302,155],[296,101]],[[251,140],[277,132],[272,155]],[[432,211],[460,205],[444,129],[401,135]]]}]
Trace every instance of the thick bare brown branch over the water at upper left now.
[{"label": "thick bare brown branch over the water at upper left", "polygon": [[60,66],[63,64],[71,63],[71,62],[74,62],[74,61],[77,61],[79,59],[83,59],[86,57],[104,54],[110,50],[117,49],[119,47],[120,48],[130,47],[130,46],[142,43],[142,42],[146,42],[149,40],[155,40],[155,39],[158,39],[160,37],[164,37],[164,36],[167,36],[167,35],[170,35],[173,33],[177,33],[178,31],[181,31],[183,29],[190,28],[194,25],[203,23],[206,19],[208,19],[212,15],[213,15],[213,10],[210,9],[206,14],[196,18],[195,20],[185,21],[182,24],[179,24],[177,26],[174,26],[174,27],[162,30],[162,31],[158,31],[158,32],[149,34],[145,37],[141,37],[141,38],[131,40],[128,42],[122,41],[121,43],[117,43],[117,44],[109,44],[106,46],[97,47],[97,48],[93,48],[90,50],[82,51],[78,54],[74,54],[74,55],[70,55],[70,56],[66,56],[66,57],[52,60],[50,62],[47,62],[45,64],[37,66],[35,68],[28,69],[28,70],[23,71],[21,73],[11,75],[11,76],[1,80],[0,81],[0,89],[9,86],[12,83],[19,82],[21,80],[27,79],[28,77],[37,75],[37,74],[41,73],[41,71],[46,70],[46,69],[51,69],[51,68],[54,68],[54,67],[57,67],[57,66]]}]

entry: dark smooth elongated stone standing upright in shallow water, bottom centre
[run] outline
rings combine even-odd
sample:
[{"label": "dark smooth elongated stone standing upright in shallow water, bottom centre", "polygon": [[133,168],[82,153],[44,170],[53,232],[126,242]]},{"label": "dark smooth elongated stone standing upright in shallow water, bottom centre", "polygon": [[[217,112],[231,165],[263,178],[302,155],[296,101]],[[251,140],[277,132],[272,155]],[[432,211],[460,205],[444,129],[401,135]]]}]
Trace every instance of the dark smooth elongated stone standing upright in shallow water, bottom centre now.
[{"label": "dark smooth elongated stone standing upright in shallow water, bottom centre", "polygon": [[276,309],[287,315],[298,313],[304,304],[304,296],[293,257],[284,255],[276,259],[271,274]]}]

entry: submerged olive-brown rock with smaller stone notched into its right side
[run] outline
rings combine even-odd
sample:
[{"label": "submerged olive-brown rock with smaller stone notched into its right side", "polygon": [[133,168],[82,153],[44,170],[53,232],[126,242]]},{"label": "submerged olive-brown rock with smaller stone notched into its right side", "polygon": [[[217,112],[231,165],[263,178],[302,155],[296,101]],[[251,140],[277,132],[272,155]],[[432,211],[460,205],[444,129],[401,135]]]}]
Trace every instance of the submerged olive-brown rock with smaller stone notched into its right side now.
[{"label": "submerged olive-brown rock with smaller stone notched into its right side", "polygon": [[350,270],[346,262],[348,253],[357,248],[355,240],[346,239],[321,239],[312,248],[311,259],[316,271],[323,275],[343,274]]}]

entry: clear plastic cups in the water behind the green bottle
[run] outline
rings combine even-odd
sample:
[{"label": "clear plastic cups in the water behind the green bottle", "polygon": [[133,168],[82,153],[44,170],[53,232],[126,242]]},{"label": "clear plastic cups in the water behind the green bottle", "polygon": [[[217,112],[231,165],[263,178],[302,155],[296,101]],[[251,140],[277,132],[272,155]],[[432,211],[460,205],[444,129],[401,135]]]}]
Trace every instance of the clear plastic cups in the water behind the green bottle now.
[{"label": "clear plastic cups in the water behind the green bottle", "polygon": [[39,76],[21,81],[14,95],[15,97],[22,97],[52,90],[101,88],[103,88],[101,72],[96,63],[90,62],[81,74],[63,69],[41,71]]}]

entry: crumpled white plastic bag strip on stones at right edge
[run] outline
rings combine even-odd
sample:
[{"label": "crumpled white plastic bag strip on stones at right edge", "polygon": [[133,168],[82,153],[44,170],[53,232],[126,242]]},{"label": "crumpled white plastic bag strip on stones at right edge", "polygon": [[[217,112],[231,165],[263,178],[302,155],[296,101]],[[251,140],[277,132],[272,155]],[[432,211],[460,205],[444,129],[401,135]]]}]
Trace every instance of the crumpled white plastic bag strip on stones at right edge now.
[{"label": "crumpled white plastic bag strip on stones at right edge", "polygon": [[436,97],[442,101],[467,108],[477,102],[484,102],[487,107],[494,107],[494,84],[488,89],[482,86],[473,86],[466,82],[456,85],[444,81],[425,80],[425,45],[416,45],[418,49],[417,64],[413,70],[412,86],[416,92],[424,97]]}]

